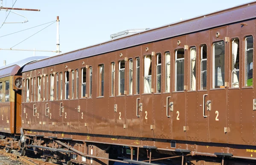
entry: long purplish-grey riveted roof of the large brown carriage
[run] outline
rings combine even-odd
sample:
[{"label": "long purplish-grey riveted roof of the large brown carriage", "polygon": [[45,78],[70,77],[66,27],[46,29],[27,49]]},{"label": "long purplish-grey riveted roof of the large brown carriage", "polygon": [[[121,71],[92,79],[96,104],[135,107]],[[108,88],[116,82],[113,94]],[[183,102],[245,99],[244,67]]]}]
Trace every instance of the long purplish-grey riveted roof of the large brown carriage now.
[{"label": "long purplish-grey riveted roof of the large brown carriage", "polygon": [[187,20],[181,20],[179,22],[160,26],[154,29],[138,32],[133,35],[127,35],[123,38],[117,38],[61,55],[45,58],[44,60],[26,65],[23,72],[62,64],[68,61],[74,61],[94,55],[101,55],[145,43],[152,43],[154,41],[173,38],[179,35],[185,35],[217,26],[224,26],[230,23],[250,20],[256,17],[255,9],[256,1],[253,1],[251,3],[242,4],[229,9],[204,14]]}]

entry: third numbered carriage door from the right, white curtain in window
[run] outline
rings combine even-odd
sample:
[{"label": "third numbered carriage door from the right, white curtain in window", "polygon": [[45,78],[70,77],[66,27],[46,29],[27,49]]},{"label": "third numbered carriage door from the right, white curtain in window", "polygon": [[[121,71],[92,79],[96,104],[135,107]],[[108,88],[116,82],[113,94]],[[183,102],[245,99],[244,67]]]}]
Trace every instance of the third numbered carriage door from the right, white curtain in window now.
[{"label": "third numbered carriage door from the right, white curtain in window", "polygon": [[[154,93],[154,55],[153,44],[141,46],[142,54],[142,90],[140,99],[137,99],[140,112],[141,132],[143,137],[154,138],[153,125],[153,93]],[[139,103],[140,101],[140,103]]]}]

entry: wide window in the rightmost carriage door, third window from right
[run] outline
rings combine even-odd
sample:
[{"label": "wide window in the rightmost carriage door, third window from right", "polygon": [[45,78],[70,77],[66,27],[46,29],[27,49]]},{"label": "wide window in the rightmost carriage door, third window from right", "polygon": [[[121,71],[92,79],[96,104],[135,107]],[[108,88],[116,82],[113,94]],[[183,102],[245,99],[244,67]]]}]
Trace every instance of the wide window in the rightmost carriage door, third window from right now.
[{"label": "wide window in the rightmost carriage door, third window from right", "polygon": [[219,41],[213,43],[213,69],[212,84],[213,88],[224,88],[225,85],[225,43]]}]

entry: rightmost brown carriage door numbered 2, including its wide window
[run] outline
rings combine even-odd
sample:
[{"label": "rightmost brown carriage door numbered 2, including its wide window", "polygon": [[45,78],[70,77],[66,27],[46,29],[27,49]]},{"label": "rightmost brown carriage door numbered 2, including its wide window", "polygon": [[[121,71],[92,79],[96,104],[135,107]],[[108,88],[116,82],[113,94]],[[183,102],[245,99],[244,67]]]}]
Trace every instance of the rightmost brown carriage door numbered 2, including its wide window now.
[{"label": "rightmost brown carriage door numbered 2, including its wide window", "polygon": [[[208,99],[205,99],[206,110],[209,118],[209,131],[211,142],[227,142],[227,27],[210,30],[211,54],[210,61],[212,65],[207,77],[211,78],[211,86],[208,92]],[[209,63],[208,63],[209,64]],[[208,79],[209,79],[208,78]]]}]

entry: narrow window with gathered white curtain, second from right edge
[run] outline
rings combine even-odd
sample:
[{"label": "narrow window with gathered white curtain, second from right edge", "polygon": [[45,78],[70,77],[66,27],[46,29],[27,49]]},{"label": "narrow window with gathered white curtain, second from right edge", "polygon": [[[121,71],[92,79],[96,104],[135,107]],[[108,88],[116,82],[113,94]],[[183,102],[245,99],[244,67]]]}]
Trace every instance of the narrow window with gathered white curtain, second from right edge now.
[{"label": "narrow window with gathered white curtain, second from right edge", "polygon": [[239,39],[232,41],[232,87],[239,87]]}]

